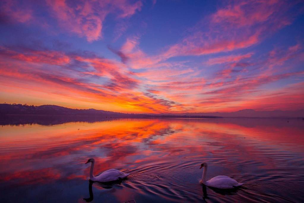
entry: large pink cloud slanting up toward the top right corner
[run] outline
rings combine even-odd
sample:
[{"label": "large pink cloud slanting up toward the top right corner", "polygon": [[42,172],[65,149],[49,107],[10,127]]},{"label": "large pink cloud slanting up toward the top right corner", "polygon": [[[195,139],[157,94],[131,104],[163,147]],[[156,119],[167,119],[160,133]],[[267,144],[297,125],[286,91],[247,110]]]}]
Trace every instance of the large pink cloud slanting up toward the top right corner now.
[{"label": "large pink cloud slanting up toward the top right corner", "polygon": [[282,1],[227,5],[203,19],[191,34],[170,46],[163,56],[203,55],[250,47],[290,24],[293,16],[287,11],[294,5]]}]

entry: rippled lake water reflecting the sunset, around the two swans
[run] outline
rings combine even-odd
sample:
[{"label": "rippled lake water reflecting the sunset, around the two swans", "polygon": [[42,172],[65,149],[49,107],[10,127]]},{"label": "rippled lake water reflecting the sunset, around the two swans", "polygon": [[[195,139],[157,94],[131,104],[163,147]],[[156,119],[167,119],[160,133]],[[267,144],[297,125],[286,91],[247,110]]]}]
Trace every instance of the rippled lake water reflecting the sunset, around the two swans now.
[{"label": "rippled lake water reflecting the sunset, around the two swans", "polygon": [[[304,122],[286,119],[121,119],[0,127],[1,202],[303,202]],[[90,184],[107,169],[121,183]],[[203,188],[227,175],[244,186]],[[83,200],[83,198],[86,198]]]}]

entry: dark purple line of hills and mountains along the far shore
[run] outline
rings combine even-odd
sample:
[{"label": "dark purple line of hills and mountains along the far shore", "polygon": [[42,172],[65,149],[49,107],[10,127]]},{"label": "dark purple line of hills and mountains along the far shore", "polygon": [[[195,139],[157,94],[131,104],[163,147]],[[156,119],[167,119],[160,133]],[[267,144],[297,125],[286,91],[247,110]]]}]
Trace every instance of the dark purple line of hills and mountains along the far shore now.
[{"label": "dark purple line of hills and mountains along the far shore", "polygon": [[243,109],[236,112],[212,112],[212,113],[175,113],[175,114],[138,114],[119,113],[96,109],[70,109],[57,105],[22,105],[0,104],[0,114],[22,115],[67,115],[67,116],[103,116],[110,118],[220,118],[220,117],[260,117],[260,118],[295,118],[304,117],[304,109],[297,111],[255,111]]}]

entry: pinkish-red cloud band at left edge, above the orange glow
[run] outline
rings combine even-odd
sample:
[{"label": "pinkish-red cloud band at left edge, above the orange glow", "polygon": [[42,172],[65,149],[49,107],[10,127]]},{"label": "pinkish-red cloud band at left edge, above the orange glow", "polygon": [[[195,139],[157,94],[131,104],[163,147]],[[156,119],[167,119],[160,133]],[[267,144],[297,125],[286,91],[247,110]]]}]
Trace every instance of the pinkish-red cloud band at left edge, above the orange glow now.
[{"label": "pinkish-red cloud band at left edge, above the orange glow", "polygon": [[[2,57],[2,59],[5,59],[3,60],[5,65],[3,65],[3,67],[0,69],[1,72],[3,71],[3,74],[14,76],[13,73],[11,74],[11,71],[8,71],[10,69],[13,72],[15,71],[16,74],[19,73],[20,77],[23,74],[27,75],[26,77],[31,78],[30,73],[33,73],[34,75],[36,75],[36,78],[41,78],[42,80],[49,80],[63,85],[72,85],[78,87],[79,89],[81,89],[81,87],[85,87],[87,90],[92,92],[98,92],[98,88],[102,88],[103,90],[109,89],[115,91],[122,91],[124,89],[129,90],[136,87],[138,83],[138,80],[132,78],[132,75],[129,74],[125,67],[123,67],[123,64],[111,61],[109,59],[103,59],[101,57],[86,58],[77,55],[66,55],[64,52],[52,50],[37,51],[26,49],[26,52],[24,52],[24,49],[25,48],[22,48],[23,52],[18,52],[13,49],[0,47],[0,56]],[[18,62],[15,62],[14,60],[17,60]],[[87,71],[81,73],[74,72],[74,76],[75,74],[78,77],[98,76],[104,77],[107,80],[102,85],[95,85],[92,83],[85,84],[84,82],[81,82],[81,80],[71,78],[70,76],[60,76],[62,74],[65,74],[64,70],[68,70],[69,74],[74,71],[73,69],[69,68],[69,65],[75,60],[88,63],[88,65],[94,67],[95,71]],[[20,66],[19,61],[26,62],[24,63],[24,67],[22,67],[21,69],[16,69],[15,67],[13,69],[8,68],[6,65],[16,64],[18,67]],[[57,66],[52,67],[52,74],[47,74],[43,73],[43,64]],[[61,66],[65,67],[62,68]]]}]

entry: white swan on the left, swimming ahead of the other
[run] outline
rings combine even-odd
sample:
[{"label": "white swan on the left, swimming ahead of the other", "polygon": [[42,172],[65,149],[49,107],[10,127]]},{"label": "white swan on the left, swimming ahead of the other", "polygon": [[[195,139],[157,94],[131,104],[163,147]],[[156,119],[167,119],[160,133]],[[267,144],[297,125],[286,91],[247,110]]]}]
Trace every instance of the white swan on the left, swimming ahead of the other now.
[{"label": "white swan on the left, swimming ahead of the other", "polygon": [[98,181],[98,182],[110,182],[110,181],[114,181],[114,180],[119,180],[119,179],[123,179],[126,176],[129,176],[130,173],[123,173],[119,170],[116,169],[109,169],[103,173],[101,173],[98,176],[94,176],[93,175],[93,169],[94,169],[94,163],[95,163],[95,159],[94,158],[90,158],[85,164],[91,162],[91,169],[90,169],[90,180],[92,181]]}]

